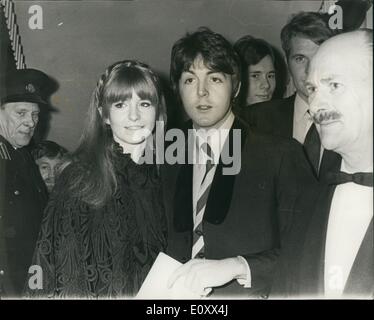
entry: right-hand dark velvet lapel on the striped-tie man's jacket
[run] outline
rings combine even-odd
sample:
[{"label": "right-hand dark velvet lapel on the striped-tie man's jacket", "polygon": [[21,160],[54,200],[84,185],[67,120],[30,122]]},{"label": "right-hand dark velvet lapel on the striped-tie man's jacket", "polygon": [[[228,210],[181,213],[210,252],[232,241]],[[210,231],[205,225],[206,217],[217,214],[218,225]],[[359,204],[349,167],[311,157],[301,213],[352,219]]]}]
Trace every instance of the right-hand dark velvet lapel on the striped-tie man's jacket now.
[{"label": "right-hand dark velvet lapel on the striped-tie man's jacket", "polygon": [[[233,155],[234,129],[241,132],[241,149],[243,149],[248,134],[248,127],[241,120],[235,118],[224,146],[224,150],[229,150],[230,156]],[[204,220],[209,223],[222,223],[230,208],[236,175],[224,175],[222,171],[225,167],[230,168],[232,165],[232,163],[224,164],[220,156],[204,212]]]}]

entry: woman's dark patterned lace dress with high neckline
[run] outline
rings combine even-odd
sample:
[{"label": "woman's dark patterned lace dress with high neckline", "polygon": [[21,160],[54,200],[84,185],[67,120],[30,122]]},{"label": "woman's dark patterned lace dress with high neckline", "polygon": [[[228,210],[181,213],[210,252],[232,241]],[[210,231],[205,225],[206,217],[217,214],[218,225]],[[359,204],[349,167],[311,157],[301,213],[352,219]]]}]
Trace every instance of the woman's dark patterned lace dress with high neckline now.
[{"label": "woman's dark patterned lace dress with high neckline", "polygon": [[117,144],[114,149],[118,188],[102,208],[92,209],[66,192],[69,177],[84,170],[82,165],[71,164],[60,176],[34,255],[34,264],[43,270],[43,289],[31,296],[133,296],[164,250],[157,168],[135,164]]}]

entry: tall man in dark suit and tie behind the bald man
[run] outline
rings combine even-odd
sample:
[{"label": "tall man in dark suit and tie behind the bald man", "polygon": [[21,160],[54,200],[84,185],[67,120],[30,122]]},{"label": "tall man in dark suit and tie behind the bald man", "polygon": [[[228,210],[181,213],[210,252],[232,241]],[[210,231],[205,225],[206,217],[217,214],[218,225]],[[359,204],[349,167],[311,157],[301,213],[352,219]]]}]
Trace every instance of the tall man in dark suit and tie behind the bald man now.
[{"label": "tall man in dark suit and tie behind the bald man", "polygon": [[295,138],[304,144],[306,156],[317,177],[336,167],[340,157],[326,151],[322,158],[318,133],[308,112],[305,80],[310,60],[318,47],[334,34],[324,15],[301,12],[293,16],[283,27],[281,40],[296,93],[285,99],[244,108],[241,113],[256,131]]}]

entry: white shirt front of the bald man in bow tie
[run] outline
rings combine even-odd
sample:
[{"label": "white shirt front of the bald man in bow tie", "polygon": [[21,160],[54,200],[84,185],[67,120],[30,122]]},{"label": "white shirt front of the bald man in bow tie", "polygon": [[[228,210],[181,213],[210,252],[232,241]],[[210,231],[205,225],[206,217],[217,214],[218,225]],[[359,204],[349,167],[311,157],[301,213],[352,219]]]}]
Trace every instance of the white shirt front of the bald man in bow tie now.
[{"label": "white shirt front of the bald man in bow tie", "polygon": [[[368,168],[366,172],[372,172]],[[347,172],[344,162],[341,171]],[[333,195],[325,248],[325,296],[343,294],[352,265],[373,218],[373,188],[353,182],[338,185]]]}]

